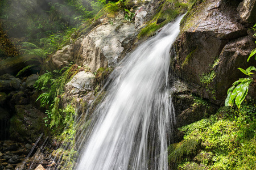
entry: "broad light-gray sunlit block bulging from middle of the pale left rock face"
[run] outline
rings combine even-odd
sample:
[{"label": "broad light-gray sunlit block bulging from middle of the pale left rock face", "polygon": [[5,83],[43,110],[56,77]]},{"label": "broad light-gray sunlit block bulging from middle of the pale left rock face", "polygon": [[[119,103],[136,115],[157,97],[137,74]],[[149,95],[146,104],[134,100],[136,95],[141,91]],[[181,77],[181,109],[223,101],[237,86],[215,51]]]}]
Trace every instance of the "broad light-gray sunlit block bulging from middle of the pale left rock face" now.
[{"label": "broad light-gray sunlit block bulging from middle of the pale left rock face", "polygon": [[122,42],[131,39],[135,25],[116,21],[113,25],[104,24],[94,28],[90,33],[75,42],[75,61],[88,66],[92,71],[100,67],[117,65],[117,59],[124,48]]}]

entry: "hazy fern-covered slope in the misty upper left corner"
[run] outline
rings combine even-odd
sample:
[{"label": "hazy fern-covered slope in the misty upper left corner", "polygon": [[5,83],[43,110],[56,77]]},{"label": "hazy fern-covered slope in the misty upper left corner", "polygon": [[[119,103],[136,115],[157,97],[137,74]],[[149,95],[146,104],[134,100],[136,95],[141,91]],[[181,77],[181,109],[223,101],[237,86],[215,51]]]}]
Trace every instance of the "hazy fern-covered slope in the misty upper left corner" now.
[{"label": "hazy fern-covered slope in the misty upper left corner", "polygon": [[44,48],[38,55],[46,57],[58,48],[65,36],[75,33],[79,25],[93,18],[106,3],[111,2],[1,0],[0,61],[36,48]]}]

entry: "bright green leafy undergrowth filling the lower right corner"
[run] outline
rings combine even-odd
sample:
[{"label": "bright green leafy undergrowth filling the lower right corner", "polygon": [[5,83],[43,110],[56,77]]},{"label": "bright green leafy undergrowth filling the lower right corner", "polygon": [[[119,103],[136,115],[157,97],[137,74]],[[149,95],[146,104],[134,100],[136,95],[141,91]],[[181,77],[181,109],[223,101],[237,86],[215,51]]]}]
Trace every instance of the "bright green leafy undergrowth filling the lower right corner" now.
[{"label": "bright green leafy undergrowth filling the lower right corner", "polygon": [[256,102],[222,107],[209,118],[179,128],[184,138],[168,147],[171,169],[255,169]]}]

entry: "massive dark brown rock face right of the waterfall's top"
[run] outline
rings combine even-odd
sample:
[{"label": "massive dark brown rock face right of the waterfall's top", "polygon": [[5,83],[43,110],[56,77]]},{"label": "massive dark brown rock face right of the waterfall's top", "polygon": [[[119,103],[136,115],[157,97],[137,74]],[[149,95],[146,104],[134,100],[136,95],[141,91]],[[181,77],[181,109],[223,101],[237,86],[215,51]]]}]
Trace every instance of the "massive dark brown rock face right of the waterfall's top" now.
[{"label": "massive dark brown rock face right of the waterfall's top", "polygon": [[247,36],[246,26],[238,22],[238,2],[231,5],[222,0],[200,2],[181,23],[171,67],[192,85],[193,93],[223,104],[228,88],[242,76],[237,68],[246,69],[255,63],[246,63],[255,44]]}]

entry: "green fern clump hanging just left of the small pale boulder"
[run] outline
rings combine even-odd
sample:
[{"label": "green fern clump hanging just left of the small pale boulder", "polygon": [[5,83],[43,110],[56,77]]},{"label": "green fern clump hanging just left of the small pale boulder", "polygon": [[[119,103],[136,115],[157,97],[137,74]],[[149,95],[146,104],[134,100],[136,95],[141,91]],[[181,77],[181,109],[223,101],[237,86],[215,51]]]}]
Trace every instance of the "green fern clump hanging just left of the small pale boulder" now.
[{"label": "green fern clump hanging just left of the small pale boulder", "polygon": [[45,121],[49,125],[49,128],[55,127],[60,131],[67,125],[66,118],[70,117],[65,117],[64,113],[70,112],[60,109],[59,102],[61,100],[61,94],[64,92],[65,84],[73,78],[79,69],[79,66],[71,65],[60,71],[47,72],[39,76],[38,80],[36,80],[34,87],[44,91],[43,94],[39,95],[37,100],[40,100],[41,107],[47,108],[47,119]]}]

